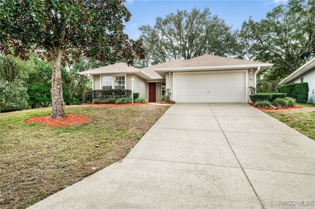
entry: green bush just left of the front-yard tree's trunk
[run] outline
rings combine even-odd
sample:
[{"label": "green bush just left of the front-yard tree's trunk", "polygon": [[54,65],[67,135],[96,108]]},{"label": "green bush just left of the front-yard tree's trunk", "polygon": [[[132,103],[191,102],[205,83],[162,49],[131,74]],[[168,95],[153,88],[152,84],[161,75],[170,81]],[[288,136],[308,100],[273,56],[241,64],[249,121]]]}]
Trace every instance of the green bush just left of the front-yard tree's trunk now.
[{"label": "green bush just left of the front-yard tree's trunk", "polygon": [[51,84],[33,82],[27,85],[28,95],[30,96],[29,104],[36,108],[36,104],[41,107],[47,107],[51,104]]}]

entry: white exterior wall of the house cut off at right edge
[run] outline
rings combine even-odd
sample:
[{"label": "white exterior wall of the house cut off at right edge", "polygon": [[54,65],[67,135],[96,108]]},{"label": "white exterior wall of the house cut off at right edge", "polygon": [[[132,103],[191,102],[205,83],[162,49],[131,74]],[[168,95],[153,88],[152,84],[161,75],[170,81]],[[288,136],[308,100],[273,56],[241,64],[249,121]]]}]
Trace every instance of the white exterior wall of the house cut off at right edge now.
[{"label": "white exterior wall of the house cut off at right edge", "polygon": [[304,82],[309,84],[309,99],[308,102],[315,104],[315,68],[312,70],[306,72],[305,74],[302,74],[298,78],[295,78],[294,80],[291,80],[289,83],[300,83],[301,78],[304,78]]}]

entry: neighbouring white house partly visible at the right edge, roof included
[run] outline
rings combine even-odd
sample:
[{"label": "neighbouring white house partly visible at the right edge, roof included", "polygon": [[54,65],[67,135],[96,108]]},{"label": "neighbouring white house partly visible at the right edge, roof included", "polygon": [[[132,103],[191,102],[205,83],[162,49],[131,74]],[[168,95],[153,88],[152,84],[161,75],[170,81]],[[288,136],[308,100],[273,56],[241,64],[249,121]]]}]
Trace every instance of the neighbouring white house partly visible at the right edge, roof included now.
[{"label": "neighbouring white house partly visible at the right edge, roof included", "polygon": [[315,57],[302,65],[299,69],[291,73],[288,77],[284,78],[279,84],[289,83],[303,83],[309,84],[309,103],[315,104],[314,91],[315,91]]}]

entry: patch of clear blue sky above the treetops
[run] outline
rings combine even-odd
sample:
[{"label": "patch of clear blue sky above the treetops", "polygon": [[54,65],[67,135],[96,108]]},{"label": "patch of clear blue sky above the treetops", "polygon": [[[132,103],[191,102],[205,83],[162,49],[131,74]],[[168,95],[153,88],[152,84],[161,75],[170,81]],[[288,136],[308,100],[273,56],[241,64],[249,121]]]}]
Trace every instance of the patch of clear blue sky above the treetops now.
[{"label": "patch of clear blue sky above the treetops", "polygon": [[126,23],[125,32],[132,39],[140,35],[138,30],[141,25],[154,26],[156,18],[177,10],[191,11],[205,7],[210,9],[211,15],[218,15],[228,26],[233,29],[241,28],[244,21],[260,21],[266,17],[267,12],[274,7],[286,3],[287,0],[126,0],[125,5],[131,12],[131,19]]}]

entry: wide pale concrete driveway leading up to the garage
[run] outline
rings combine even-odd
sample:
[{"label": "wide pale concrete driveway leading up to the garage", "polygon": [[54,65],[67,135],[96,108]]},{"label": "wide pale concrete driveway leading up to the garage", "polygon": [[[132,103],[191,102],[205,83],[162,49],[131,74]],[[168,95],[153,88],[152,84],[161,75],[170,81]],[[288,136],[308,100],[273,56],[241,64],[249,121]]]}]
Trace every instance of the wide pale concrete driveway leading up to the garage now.
[{"label": "wide pale concrete driveway leading up to the garage", "polygon": [[174,104],[122,161],[32,209],[314,208],[315,141],[249,104]]}]

